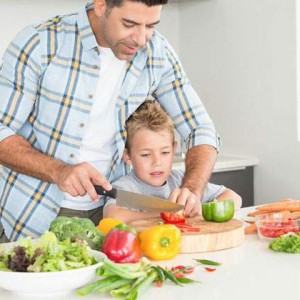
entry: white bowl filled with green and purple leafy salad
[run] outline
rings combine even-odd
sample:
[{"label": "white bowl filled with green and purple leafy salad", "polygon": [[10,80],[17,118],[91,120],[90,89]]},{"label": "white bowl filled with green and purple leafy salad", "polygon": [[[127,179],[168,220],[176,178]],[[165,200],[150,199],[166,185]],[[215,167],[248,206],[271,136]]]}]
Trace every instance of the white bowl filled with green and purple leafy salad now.
[{"label": "white bowl filled with green and purple leafy salad", "polygon": [[105,258],[86,242],[58,241],[52,232],[0,245],[0,288],[25,296],[70,293],[96,278]]}]

